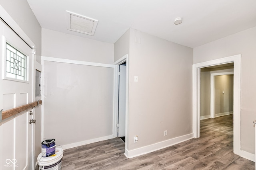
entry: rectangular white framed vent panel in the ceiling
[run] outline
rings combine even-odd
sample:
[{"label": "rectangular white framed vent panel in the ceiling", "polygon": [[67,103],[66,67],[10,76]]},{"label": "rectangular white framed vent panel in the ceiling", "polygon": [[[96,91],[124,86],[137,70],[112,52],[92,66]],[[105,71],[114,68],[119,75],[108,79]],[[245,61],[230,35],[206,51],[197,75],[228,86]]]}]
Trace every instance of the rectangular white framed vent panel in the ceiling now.
[{"label": "rectangular white framed vent panel in the ceiling", "polygon": [[88,18],[73,12],[68,13],[68,30],[84,33],[88,35],[94,35],[95,29],[98,24],[98,20]]}]

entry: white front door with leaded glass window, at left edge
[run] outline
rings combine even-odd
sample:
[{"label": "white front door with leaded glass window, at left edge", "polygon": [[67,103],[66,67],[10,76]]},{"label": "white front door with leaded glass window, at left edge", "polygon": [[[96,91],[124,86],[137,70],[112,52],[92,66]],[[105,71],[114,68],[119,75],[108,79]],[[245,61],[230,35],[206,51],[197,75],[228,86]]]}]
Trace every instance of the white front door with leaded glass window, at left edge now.
[{"label": "white front door with leaded glass window, at left edge", "polygon": [[[2,76],[0,78],[0,109],[7,110],[33,102],[34,59],[32,49],[2,21],[0,21],[0,35],[0,75]],[[6,67],[15,67],[19,70],[20,66],[23,66],[19,63],[22,59],[15,54],[18,53],[17,51],[6,51],[6,43],[27,56],[27,63],[24,64],[27,66],[27,71],[25,71],[27,81],[5,77]],[[10,57],[12,64],[6,65],[6,54],[12,56]],[[0,122],[0,169],[34,169],[32,163],[34,123],[29,124],[32,118],[33,115],[30,115],[30,110],[28,110]]]}]

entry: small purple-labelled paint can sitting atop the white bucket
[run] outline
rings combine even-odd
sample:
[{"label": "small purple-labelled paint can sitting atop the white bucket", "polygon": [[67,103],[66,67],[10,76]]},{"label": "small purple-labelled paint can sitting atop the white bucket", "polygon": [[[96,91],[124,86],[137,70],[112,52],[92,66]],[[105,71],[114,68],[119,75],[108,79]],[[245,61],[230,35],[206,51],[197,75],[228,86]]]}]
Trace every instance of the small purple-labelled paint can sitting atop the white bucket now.
[{"label": "small purple-labelled paint can sitting atop the white bucket", "polygon": [[55,153],[55,139],[47,139],[42,141],[42,157],[52,156]]}]

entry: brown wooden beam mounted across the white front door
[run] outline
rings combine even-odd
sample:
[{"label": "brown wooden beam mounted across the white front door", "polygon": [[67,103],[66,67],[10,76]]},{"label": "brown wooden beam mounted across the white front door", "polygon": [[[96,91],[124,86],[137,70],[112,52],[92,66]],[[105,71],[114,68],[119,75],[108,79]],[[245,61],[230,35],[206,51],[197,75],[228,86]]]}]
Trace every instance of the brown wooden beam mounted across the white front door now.
[{"label": "brown wooden beam mounted across the white front door", "polygon": [[40,104],[42,104],[42,100],[30,103],[30,104],[25,104],[25,105],[22,105],[22,106],[19,106],[19,107],[15,107],[13,109],[9,109],[9,110],[6,110],[6,111],[2,111],[2,115],[0,115],[0,116],[2,116],[2,117],[0,117],[0,121],[2,121],[4,119],[7,119],[8,117],[14,116],[14,115],[16,115],[16,114],[18,114],[22,111],[25,111],[25,110],[28,110],[28,109],[33,108],[35,106],[38,106]]}]

